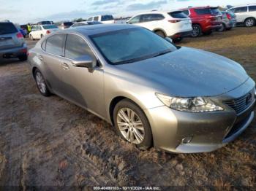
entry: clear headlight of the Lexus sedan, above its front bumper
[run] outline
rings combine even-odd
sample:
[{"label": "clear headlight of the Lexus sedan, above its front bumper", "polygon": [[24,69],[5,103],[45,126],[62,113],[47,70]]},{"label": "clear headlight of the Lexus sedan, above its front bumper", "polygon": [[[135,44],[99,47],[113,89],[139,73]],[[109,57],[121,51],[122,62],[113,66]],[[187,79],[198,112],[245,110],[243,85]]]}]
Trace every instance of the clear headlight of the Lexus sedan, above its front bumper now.
[{"label": "clear headlight of the Lexus sedan, above its front bumper", "polygon": [[176,98],[156,93],[157,98],[162,101],[165,106],[183,112],[214,112],[224,110],[221,106],[217,106],[209,98]]}]

